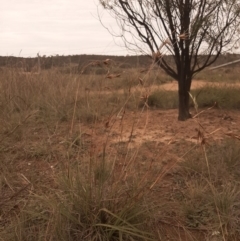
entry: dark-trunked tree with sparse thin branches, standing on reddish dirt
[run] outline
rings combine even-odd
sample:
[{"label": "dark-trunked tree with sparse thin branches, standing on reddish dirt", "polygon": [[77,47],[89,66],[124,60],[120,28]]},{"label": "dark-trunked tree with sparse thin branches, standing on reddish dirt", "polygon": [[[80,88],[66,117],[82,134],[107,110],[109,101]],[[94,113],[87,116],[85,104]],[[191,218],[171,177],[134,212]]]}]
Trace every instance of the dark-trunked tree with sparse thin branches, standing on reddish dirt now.
[{"label": "dark-trunked tree with sparse thin branches, standing on reddish dirt", "polygon": [[240,0],[99,1],[117,20],[126,47],[150,51],[155,63],[178,81],[178,119],[190,118],[193,76],[239,40]]}]

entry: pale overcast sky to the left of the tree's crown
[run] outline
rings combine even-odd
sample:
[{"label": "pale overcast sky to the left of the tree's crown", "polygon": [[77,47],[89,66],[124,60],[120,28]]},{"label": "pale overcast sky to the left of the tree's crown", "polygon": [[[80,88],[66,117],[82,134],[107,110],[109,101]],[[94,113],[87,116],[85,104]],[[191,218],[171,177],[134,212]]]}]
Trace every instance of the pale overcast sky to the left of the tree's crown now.
[{"label": "pale overcast sky to the left of the tree's crown", "polygon": [[[0,0],[0,55],[126,55],[98,20],[98,0]],[[107,26],[115,20],[104,14]]]}]

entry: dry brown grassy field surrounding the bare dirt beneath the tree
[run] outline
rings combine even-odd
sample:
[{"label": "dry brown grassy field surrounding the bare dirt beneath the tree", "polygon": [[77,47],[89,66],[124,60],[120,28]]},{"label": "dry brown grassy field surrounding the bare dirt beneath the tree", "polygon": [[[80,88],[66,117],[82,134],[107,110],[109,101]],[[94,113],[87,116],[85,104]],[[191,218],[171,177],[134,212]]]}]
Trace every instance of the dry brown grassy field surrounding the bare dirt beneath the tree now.
[{"label": "dry brown grassy field surrounding the bare dirt beneath the tree", "polygon": [[[0,240],[240,240],[239,133],[208,141],[196,117],[195,142],[132,145],[149,111],[177,112],[177,92],[161,89],[172,80],[160,70],[102,66],[1,69]],[[195,79],[235,83],[239,73]],[[238,113],[239,93],[210,83],[191,105],[198,116]],[[126,113],[128,140],[113,142]]]}]

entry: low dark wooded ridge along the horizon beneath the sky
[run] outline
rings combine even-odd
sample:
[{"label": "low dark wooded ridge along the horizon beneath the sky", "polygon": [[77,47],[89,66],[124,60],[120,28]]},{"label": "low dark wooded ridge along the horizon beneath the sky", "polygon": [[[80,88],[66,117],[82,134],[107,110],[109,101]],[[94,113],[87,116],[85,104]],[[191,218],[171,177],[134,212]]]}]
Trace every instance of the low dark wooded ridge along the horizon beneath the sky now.
[{"label": "low dark wooded ridge along the horizon beneath the sky", "polygon": [[[165,56],[173,61],[172,56]],[[41,56],[41,69],[50,69],[53,67],[75,66],[78,70],[93,61],[104,61],[110,59],[121,68],[147,67],[152,63],[150,56],[111,56],[111,55],[71,55],[71,56]],[[240,59],[239,54],[221,55],[214,65],[224,64],[230,61]],[[213,66],[214,66],[213,65]],[[37,69],[38,57],[23,58],[14,56],[0,56],[0,67],[21,68],[23,71],[31,72]]]}]

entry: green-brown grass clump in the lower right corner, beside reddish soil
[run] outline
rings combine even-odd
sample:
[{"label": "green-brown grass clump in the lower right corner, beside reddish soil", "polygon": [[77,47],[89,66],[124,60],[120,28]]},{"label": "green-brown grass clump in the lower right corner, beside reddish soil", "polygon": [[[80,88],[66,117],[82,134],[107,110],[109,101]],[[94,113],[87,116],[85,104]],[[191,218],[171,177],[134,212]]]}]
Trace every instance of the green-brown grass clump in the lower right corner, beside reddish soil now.
[{"label": "green-brown grass clump in the lower right corner, beside reddish soil", "polygon": [[[205,148],[204,148],[205,149]],[[182,162],[184,187],[175,198],[187,226],[219,231],[225,240],[240,235],[240,143],[225,140],[195,149]]]}]

